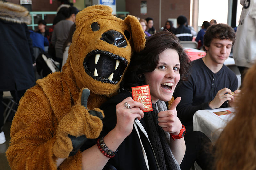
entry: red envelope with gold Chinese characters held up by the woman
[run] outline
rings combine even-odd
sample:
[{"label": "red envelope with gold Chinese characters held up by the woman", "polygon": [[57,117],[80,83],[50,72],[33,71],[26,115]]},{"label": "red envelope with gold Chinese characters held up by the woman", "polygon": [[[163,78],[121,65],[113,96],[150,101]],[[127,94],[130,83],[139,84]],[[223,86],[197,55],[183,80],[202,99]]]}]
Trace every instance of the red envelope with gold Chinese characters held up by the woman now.
[{"label": "red envelope with gold Chinese characters held up by the woman", "polygon": [[149,85],[132,87],[132,98],[144,104],[143,112],[153,111]]}]

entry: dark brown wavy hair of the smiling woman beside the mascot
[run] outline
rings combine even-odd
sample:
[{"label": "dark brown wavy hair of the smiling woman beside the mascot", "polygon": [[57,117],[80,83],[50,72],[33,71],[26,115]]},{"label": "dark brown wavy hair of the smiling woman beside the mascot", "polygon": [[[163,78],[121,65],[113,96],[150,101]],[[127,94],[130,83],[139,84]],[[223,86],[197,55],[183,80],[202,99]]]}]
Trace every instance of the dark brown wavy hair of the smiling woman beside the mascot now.
[{"label": "dark brown wavy hair of the smiling woman beside the mascot", "polygon": [[158,64],[159,54],[168,48],[177,51],[180,60],[180,80],[187,80],[190,58],[174,34],[162,31],[149,36],[145,48],[133,54],[121,87],[131,90],[131,87],[145,85],[143,73],[154,71]]}]

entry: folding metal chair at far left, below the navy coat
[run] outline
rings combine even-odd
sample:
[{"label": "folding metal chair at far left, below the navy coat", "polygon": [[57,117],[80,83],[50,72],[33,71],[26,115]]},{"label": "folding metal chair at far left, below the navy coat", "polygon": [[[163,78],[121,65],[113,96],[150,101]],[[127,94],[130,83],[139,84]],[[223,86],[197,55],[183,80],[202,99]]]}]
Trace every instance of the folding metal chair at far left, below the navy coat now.
[{"label": "folding metal chair at far left, below the navy coat", "polygon": [[[7,101],[7,102],[5,102]],[[6,106],[5,110],[4,110],[4,124],[7,120],[7,118],[9,117],[11,111],[16,112],[16,110],[14,110],[15,105],[17,104],[14,100],[13,97],[10,93],[10,91],[4,91],[3,92],[3,101],[2,101],[3,105]]]}]

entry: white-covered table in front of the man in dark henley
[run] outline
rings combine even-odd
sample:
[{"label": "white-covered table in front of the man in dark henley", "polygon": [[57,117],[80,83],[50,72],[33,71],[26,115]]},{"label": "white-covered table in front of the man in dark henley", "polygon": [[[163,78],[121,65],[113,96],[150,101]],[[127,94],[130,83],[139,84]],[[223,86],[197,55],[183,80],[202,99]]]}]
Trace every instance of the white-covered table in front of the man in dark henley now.
[{"label": "white-covered table in front of the man in dark henley", "polygon": [[[229,110],[227,115],[216,115],[213,112]],[[193,116],[193,130],[203,132],[214,144],[227,123],[234,117],[234,108],[198,110]]]}]

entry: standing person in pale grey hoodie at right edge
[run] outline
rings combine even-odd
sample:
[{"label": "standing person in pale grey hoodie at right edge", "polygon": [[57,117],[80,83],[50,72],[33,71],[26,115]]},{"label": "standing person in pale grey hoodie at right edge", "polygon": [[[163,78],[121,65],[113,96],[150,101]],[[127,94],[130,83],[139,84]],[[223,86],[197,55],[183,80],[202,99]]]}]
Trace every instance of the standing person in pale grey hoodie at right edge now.
[{"label": "standing person in pale grey hoodie at right edge", "polygon": [[246,71],[256,60],[256,1],[240,0],[240,4],[243,8],[237,27],[233,58],[241,73],[243,85]]}]

